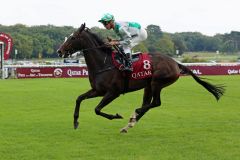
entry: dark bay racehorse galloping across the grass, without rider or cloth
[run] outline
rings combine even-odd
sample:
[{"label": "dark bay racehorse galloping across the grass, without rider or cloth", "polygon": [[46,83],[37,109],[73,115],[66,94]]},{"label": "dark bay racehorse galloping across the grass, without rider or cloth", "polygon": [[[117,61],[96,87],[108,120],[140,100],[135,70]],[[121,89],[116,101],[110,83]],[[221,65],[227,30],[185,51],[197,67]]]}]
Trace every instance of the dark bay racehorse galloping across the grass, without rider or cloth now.
[{"label": "dark bay racehorse galloping across the grass, without rider or cloth", "polygon": [[112,48],[106,46],[96,34],[85,27],[85,24],[82,24],[80,28],[70,35],[57,52],[61,57],[68,57],[77,51],[83,52],[89,72],[91,89],[81,94],[76,100],[73,122],[75,129],[78,127],[79,109],[83,100],[101,96],[103,98],[96,106],[95,113],[110,120],[121,119],[122,116],[119,114],[111,115],[101,110],[120,94],[144,88],[142,106],[135,110],[130,117],[129,123],[121,129],[121,132],[127,132],[149,109],[161,105],[160,93],[162,89],[173,84],[179,78],[180,73],[191,75],[197,83],[212,93],[217,100],[224,93],[223,86],[212,85],[202,80],[190,69],[163,54],[150,54],[152,61],[151,78],[129,79],[128,88],[125,90],[126,78],[123,76],[122,71],[119,71],[113,65]]}]

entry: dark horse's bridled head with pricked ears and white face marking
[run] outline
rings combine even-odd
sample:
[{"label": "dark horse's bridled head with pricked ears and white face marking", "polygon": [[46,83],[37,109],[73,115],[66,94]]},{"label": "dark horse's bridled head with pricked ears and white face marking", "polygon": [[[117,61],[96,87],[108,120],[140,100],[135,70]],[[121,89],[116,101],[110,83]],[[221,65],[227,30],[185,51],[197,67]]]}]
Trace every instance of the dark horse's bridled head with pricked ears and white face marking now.
[{"label": "dark horse's bridled head with pricked ears and white face marking", "polygon": [[85,23],[81,25],[73,34],[71,34],[68,38],[65,39],[64,43],[59,47],[57,53],[59,57],[69,57],[73,53],[82,49],[81,42],[83,39],[81,38],[81,33],[85,29]]}]

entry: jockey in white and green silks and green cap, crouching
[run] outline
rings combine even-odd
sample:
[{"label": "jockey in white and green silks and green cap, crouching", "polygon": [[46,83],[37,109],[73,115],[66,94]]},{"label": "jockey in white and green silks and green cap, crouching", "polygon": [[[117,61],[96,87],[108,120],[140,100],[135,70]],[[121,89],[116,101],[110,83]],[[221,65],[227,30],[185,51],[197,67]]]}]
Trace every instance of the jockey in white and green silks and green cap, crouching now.
[{"label": "jockey in white and green silks and green cap, crouching", "polygon": [[136,22],[116,22],[114,16],[109,13],[104,14],[98,22],[101,22],[108,30],[113,29],[120,37],[120,40],[112,40],[108,44],[111,46],[120,45],[129,62],[124,70],[132,71],[131,49],[147,39],[147,31]]}]

